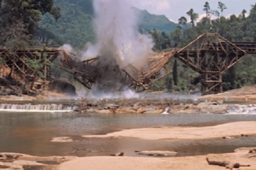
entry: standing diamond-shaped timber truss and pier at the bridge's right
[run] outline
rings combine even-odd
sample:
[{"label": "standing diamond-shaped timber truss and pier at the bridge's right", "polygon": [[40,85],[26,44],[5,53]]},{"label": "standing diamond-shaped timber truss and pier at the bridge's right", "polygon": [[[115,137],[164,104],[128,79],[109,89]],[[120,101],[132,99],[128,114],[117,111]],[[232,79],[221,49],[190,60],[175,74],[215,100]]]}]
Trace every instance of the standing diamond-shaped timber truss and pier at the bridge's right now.
[{"label": "standing diamond-shaped timber truss and pier at the bridge's right", "polygon": [[175,57],[201,74],[201,94],[223,92],[222,74],[247,54],[255,54],[252,43],[230,42],[216,33],[207,33],[176,52]]}]

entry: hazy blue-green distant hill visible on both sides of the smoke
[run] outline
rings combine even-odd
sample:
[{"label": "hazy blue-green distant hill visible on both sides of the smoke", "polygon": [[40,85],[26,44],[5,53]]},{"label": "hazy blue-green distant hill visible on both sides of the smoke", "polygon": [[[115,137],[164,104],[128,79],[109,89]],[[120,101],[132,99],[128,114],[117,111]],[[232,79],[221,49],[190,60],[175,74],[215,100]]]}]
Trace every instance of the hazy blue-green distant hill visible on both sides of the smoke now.
[{"label": "hazy blue-green distant hill visible on both sides of the smoke", "polygon": [[[74,47],[81,47],[86,42],[95,40],[92,26],[94,18],[92,0],[55,0],[55,4],[61,8],[60,19],[56,23],[52,16],[45,15],[39,23],[39,28],[53,33],[59,39],[59,43],[65,42]],[[156,28],[169,34],[177,26],[166,16],[157,16],[145,10],[138,9],[138,11],[139,26],[146,30]]]}]

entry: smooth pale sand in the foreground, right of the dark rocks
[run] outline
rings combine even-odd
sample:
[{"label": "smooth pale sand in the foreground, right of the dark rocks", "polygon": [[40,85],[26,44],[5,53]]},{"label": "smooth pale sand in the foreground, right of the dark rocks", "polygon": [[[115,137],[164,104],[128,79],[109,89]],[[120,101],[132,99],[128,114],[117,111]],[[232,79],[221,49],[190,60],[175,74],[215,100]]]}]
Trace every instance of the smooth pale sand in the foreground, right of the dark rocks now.
[{"label": "smooth pale sand in the foreground, right of the dark rocks", "polygon": [[245,158],[245,152],[229,154],[208,154],[196,157],[84,157],[76,158],[59,166],[59,170],[219,170],[222,166],[208,165],[206,157],[215,161],[232,161],[240,164],[250,164],[250,167],[241,167],[240,170],[255,170],[256,158]]}]

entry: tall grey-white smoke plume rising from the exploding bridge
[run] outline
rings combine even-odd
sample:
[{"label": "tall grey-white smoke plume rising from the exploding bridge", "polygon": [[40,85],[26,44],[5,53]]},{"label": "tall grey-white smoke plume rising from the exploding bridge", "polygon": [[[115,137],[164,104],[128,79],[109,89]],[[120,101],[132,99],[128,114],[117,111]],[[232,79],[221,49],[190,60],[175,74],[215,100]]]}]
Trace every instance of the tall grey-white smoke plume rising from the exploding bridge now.
[{"label": "tall grey-white smoke plume rising from the exploding bridge", "polygon": [[[130,75],[134,73],[130,66],[140,70],[152,53],[153,40],[149,35],[139,33],[139,11],[129,4],[129,0],[94,0],[96,43],[87,43],[86,50],[75,52],[81,60],[99,57],[96,84],[91,91],[95,97],[137,97],[127,88],[129,82],[124,79],[124,69]],[[70,45],[64,50],[73,52]],[[120,92],[121,91],[121,92]],[[127,93],[129,95],[127,95]]]}]

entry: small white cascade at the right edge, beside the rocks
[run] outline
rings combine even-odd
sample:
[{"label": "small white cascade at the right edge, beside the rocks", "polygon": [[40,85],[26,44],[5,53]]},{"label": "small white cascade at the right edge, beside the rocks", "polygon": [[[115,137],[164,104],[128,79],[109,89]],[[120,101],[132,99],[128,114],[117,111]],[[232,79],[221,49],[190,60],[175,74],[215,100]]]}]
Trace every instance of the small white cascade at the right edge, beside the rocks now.
[{"label": "small white cascade at the right edge, beside the rocks", "polygon": [[228,115],[256,115],[256,106],[249,105],[233,105],[228,111]]}]

